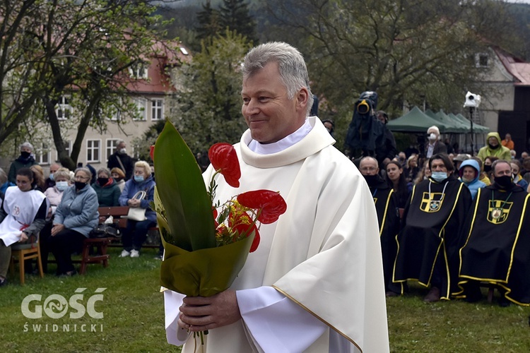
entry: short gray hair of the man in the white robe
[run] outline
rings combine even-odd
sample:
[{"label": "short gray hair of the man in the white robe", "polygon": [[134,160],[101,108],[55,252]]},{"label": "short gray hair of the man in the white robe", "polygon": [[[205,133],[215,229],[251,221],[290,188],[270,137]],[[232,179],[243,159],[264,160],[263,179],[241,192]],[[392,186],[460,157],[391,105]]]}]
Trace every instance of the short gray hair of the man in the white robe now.
[{"label": "short gray hair of the man in the white robe", "polygon": [[247,53],[243,61],[243,78],[264,68],[270,62],[277,62],[280,78],[287,89],[287,97],[292,100],[300,88],[307,89],[307,115],[313,105],[307,66],[298,49],[284,42],[268,42],[254,47]]}]

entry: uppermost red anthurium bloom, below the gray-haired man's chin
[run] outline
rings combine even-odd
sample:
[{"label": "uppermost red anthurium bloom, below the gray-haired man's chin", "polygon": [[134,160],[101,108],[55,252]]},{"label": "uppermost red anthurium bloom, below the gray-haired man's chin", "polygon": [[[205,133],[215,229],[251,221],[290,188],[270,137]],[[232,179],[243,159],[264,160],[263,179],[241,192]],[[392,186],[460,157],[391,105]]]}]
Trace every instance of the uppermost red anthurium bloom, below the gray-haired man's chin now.
[{"label": "uppermost red anthurium bloom, below the gray-haired man's chin", "polygon": [[220,170],[228,185],[234,188],[240,186],[240,162],[237,160],[234,146],[230,143],[216,143],[208,150],[208,157],[213,168]]}]

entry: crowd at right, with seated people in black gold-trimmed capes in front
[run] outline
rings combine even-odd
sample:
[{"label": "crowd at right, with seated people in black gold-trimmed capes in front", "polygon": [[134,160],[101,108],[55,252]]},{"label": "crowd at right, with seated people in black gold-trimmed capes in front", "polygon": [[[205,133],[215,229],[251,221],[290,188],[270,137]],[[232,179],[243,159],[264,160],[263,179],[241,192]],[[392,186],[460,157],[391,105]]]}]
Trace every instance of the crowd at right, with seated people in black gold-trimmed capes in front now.
[{"label": "crowd at right, with seated people in black gold-trimmed capes in front", "polygon": [[423,153],[399,152],[381,172],[373,157],[354,161],[379,218],[387,297],[416,280],[426,302],[477,301],[482,285],[499,290],[501,306],[529,305],[530,157],[505,147],[510,134],[489,133],[477,156],[448,154],[436,126],[427,139]]}]

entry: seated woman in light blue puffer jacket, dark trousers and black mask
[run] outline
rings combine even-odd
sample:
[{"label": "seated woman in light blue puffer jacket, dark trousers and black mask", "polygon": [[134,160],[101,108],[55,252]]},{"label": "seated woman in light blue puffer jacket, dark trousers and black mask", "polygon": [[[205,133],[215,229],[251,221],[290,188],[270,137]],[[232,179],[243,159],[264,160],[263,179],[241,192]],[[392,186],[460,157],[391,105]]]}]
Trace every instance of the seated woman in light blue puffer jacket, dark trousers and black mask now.
[{"label": "seated woman in light blue puffer jacket, dark trousers and black mask", "polygon": [[76,169],[75,185],[64,191],[55,211],[48,244],[57,261],[57,275],[71,276],[76,273],[71,253],[81,251],[83,241],[98,225],[98,196],[89,184],[91,177],[89,169]]}]

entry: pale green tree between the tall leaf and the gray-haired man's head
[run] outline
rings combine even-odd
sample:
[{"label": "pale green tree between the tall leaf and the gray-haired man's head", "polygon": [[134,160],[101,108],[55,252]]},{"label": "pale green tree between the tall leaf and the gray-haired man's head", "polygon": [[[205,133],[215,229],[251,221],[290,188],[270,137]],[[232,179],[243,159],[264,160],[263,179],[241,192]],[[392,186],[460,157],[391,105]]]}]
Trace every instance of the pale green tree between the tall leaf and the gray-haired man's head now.
[{"label": "pale green tree between the tall leaf and the gray-haired man's head", "polygon": [[245,37],[227,30],[203,41],[201,52],[182,67],[170,119],[192,152],[237,143],[245,131],[239,68],[249,48]]}]

